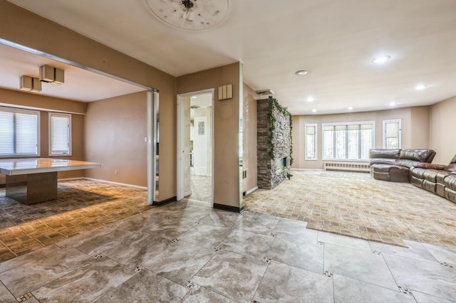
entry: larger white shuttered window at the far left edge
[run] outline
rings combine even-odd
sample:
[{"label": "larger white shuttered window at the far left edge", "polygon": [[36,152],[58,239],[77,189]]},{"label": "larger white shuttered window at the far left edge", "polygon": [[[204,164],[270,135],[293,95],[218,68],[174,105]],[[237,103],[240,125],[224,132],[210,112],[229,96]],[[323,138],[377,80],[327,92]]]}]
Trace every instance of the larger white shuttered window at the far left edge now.
[{"label": "larger white shuttered window at the far left edge", "polygon": [[0,107],[0,157],[39,156],[40,113]]}]

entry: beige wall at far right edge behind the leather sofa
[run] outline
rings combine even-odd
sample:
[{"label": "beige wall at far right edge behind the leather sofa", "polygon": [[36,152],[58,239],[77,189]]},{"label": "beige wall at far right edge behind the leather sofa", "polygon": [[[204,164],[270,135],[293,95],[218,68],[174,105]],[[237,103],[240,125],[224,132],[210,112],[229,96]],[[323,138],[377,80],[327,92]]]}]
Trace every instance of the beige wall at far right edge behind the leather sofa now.
[{"label": "beige wall at far right edge behind the leather sofa", "polygon": [[448,164],[456,154],[456,97],[432,105],[430,110],[430,146],[437,151],[434,163]]}]

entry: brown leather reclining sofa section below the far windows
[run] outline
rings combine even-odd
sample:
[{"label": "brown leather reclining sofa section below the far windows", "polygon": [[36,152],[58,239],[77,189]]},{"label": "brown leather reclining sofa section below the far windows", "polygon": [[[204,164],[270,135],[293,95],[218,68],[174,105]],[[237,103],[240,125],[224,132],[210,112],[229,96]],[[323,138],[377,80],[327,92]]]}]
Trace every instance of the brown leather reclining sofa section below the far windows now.
[{"label": "brown leather reclining sofa section below the far windows", "polygon": [[434,156],[432,149],[371,149],[371,176],[383,181],[410,182],[410,168],[431,163]]}]

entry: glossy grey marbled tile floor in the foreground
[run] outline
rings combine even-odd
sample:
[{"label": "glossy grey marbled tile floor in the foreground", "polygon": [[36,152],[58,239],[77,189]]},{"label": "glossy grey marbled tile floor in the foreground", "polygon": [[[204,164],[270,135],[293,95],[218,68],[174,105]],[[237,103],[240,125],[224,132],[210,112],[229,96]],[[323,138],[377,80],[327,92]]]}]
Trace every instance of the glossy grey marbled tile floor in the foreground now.
[{"label": "glossy grey marbled tile floor in the foreground", "polygon": [[0,263],[0,302],[455,302],[456,250],[175,202]]}]

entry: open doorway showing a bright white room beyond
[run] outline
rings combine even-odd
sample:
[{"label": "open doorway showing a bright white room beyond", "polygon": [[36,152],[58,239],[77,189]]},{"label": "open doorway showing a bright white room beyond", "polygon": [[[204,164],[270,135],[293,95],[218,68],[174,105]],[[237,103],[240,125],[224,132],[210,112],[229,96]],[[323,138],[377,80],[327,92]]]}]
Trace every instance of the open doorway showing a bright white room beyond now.
[{"label": "open doorway showing a bright white room beyond", "polygon": [[213,204],[214,90],[177,96],[177,200]]}]

